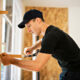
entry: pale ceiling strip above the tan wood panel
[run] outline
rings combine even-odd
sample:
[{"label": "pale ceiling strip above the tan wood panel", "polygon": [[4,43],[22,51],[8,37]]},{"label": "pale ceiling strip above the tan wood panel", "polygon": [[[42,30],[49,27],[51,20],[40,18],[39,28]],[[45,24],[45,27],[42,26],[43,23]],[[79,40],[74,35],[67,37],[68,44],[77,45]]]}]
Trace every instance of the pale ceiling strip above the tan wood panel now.
[{"label": "pale ceiling strip above the tan wood panel", "polygon": [[23,0],[25,6],[80,7],[80,0]]}]

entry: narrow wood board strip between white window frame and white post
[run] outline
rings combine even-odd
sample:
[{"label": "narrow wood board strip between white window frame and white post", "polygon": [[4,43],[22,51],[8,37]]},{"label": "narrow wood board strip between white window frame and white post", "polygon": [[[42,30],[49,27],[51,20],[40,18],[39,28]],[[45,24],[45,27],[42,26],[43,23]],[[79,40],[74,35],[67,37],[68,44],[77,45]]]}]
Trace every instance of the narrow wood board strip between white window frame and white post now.
[{"label": "narrow wood board strip between white window frame and white post", "polygon": [[[32,34],[27,32],[27,28],[24,29],[24,43],[23,49],[25,47],[30,47],[32,45]],[[25,58],[24,60],[31,60],[32,58]],[[32,72],[22,70],[21,80],[32,80]]]}]

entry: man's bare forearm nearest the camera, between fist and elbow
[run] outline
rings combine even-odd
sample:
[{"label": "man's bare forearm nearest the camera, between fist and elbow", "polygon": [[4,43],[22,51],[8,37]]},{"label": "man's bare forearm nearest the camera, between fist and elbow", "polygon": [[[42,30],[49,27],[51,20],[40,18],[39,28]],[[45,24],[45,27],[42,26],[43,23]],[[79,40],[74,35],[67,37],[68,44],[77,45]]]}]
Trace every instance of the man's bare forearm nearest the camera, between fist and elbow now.
[{"label": "man's bare forearm nearest the camera, between fist and elbow", "polygon": [[21,67],[28,71],[39,71],[39,63],[37,63],[35,60],[32,61],[32,60],[12,59],[11,64]]}]

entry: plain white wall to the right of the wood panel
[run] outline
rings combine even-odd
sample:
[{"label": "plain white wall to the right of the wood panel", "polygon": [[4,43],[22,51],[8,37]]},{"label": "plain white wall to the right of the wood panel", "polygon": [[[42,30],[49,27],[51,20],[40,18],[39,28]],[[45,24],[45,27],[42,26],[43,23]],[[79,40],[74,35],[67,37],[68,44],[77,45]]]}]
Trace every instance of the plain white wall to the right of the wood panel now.
[{"label": "plain white wall to the right of the wood panel", "polygon": [[69,34],[80,47],[80,7],[69,7]]}]

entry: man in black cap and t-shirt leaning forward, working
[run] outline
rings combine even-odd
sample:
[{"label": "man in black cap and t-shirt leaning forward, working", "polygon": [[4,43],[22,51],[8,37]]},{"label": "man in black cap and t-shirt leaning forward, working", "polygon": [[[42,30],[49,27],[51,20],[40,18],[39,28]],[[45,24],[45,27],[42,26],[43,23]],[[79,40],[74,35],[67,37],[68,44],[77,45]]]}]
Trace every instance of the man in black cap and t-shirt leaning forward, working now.
[{"label": "man in black cap and t-shirt leaning forward, working", "polygon": [[40,71],[52,56],[58,60],[62,68],[60,80],[80,80],[80,49],[68,34],[46,24],[42,12],[35,9],[25,13],[18,27],[27,27],[29,32],[44,36],[42,40],[26,49],[26,52],[31,53],[41,46],[40,52],[33,61],[17,60],[3,53],[1,60],[4,65],[13,64],[29,71]]}]

